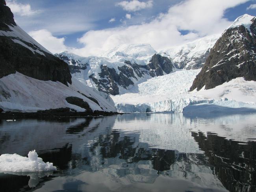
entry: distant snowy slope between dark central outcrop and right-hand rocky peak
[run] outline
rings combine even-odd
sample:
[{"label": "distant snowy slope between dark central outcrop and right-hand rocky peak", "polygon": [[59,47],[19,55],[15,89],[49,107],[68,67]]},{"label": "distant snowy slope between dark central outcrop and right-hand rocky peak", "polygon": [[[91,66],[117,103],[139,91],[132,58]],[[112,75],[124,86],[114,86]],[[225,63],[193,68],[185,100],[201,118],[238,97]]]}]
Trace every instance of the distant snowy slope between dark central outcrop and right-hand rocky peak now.
[{"label": "distant snowy slope between dark central outcrop and right-hand rocky peak", "polygon": [[193,42],[181,46],[171,47],[162,50],[161,55],[171,58],[173,64],[179,69],[201,68],[220,35],[206,36]]}]

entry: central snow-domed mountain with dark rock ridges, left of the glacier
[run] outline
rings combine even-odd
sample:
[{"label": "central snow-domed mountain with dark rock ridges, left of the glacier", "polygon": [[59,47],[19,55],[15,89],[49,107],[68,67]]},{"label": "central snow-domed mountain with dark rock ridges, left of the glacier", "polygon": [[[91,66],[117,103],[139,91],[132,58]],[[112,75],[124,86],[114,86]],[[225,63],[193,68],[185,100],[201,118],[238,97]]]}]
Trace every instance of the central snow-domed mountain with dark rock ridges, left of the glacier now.
[{"label": "central snow-domed mountain with dark rock ridges, left of the glacier", "polygon": [[134,85],[174,69],[169,58],[155,54],[148,44],[122,45],[104,55],[106,57],[80,57],[70,52],[56,54],[69,64],[73,77],[111,95],[129,92]]}]

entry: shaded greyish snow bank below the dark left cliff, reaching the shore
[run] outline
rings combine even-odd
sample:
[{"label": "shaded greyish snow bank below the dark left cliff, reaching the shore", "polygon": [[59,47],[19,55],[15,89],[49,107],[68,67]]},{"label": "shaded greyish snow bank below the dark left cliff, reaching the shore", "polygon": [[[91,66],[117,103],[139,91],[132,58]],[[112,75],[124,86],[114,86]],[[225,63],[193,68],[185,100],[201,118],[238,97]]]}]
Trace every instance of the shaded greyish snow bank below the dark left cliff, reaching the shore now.
[{"label": "shaded greyish snow bank below the dark left cliff, reaching the shore", "polygon": [[[116,111],[107,94],[87,87],[75,78],[72,78],[72,85],[67,87],[58,81],[41,81],[16,72],[0,79],[0,92],[0,108],[4,111],[36,112],[65,107],[85,111],[68,103],[66,98],[70,96],[82,98],[93,111]],[[99,105],[83,94],[95,98]]]}]

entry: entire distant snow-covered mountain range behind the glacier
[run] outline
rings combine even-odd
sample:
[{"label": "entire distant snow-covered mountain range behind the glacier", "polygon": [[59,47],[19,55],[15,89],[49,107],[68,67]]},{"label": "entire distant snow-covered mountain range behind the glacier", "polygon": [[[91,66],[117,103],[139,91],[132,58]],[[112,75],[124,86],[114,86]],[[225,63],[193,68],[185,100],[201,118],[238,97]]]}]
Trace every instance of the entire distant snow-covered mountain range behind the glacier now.
[{"label": "entire distant snow-covered mountain range behind the glacier", "polygon": [[108,94],[130,92],[147,79],[176,69],[198,69],[205,63],[219,35],[156,52],[149,44],[122,44],[100,57],[80,57],[70,52],[56,54],[69,64],[72,76]]}]

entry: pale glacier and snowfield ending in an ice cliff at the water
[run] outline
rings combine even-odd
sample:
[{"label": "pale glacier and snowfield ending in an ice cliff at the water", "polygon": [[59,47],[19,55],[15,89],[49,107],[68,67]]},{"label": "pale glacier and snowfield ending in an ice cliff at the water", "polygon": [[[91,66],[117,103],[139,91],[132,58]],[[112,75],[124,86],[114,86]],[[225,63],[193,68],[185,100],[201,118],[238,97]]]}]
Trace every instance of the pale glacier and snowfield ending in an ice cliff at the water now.
[{"label": "pale glacier and snowfield ending in an ice cliff at the water", "polygon": [[232,79],[213,89],[188,92],[200,70],[182,70],[149,79],[133,93],[112,96],[120,113],[256,112],[256,81]]}]

